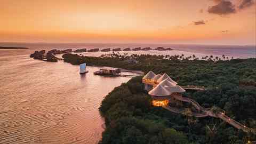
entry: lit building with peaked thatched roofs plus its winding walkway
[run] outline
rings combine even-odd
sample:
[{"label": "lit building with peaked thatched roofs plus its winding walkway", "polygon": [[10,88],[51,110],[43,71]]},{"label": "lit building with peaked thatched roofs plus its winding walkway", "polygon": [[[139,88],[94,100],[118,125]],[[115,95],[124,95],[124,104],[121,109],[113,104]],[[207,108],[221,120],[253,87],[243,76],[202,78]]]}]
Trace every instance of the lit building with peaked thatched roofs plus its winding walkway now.
[{"label": "lit building with peaked thatched roofs plus its winding walkway", "polygon": [[[154,74],[153,71],[149,71],[143,78],[142,83],[145,84],[145,90],[148,91],[148,94],[151,96],[152,105],[156,107],[163,107],[173,113],[183,114],[187,116],[194,117],[217,117],[223,121],[233,125],[237,129],[241,129],[244,132],[253,132],[256,133],[255,129],[250,129],[245,125],[238,123],[234,119],[225,115],[225,112],[218,111],[217,113],[213,112],[211,109],[203,108],[195,100],[189,99],[182,96],[183,92],[186,92],[177,82],[168,76],[166,73]],[[199,90],[199,89],[198,89]],[[171,103],[179,102],[188,102],[191,103],[196,109],[196,112],[190,111],[191,113],[186,113],[184,108],[171,107]]]}]

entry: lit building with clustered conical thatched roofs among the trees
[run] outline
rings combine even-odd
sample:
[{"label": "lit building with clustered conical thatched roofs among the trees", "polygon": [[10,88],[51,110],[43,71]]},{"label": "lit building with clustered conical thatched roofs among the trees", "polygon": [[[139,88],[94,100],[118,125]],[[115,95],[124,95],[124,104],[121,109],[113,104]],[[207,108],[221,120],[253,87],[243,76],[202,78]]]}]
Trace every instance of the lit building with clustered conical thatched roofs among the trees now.
[{"label": "lit building with clustered conical thatched roofs among the trees", "polygon": [[145,84],[145,90],[153,98],[154,106],[165,106],[173,94],[186,92],[166,73],[156,75],[153,71],[149,71],[142,78],[142,82]]}]

